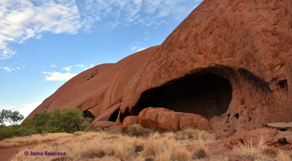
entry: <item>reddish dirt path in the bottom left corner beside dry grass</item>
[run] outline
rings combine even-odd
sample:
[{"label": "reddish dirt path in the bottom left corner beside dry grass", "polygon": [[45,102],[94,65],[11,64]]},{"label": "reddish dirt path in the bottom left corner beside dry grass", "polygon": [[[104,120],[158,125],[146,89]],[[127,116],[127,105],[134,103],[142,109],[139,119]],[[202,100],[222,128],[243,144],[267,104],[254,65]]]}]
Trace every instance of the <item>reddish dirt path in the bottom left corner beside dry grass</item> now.
[{"label": "reddish dirt path in the bottom left corner beside dry grass", "polygon": [[54,141],[46,141],[46,142],[41,142],[41,143],[31,143],[28,145],[22,145],[22,146],[14,146],[14,147],[9,147],[9,148],[2,148],[0,149],[0,161],[7,161],[16,150],[19,150],[21,148],[29,147],[33,148],[35,146],[38,146],[40,144],[51,144]]}]

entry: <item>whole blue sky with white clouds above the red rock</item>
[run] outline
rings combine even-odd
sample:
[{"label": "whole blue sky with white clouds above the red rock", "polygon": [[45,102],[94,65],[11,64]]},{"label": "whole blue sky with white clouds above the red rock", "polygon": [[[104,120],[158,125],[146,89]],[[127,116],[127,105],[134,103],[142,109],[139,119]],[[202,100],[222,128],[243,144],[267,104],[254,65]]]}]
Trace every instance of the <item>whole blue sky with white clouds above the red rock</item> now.
[{"label": "whole blue sky with white clouds above the red rock", "polygon": [[202,0],[1,0],[0,110],[25,117],[62,84],[160,45]]}]

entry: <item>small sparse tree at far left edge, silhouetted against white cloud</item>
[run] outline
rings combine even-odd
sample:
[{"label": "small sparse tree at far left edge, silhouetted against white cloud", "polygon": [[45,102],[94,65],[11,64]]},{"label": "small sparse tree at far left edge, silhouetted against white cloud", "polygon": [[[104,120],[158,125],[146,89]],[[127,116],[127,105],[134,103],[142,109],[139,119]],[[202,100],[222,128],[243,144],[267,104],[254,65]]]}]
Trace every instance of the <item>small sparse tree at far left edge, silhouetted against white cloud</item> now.
[{"label": "small sparse tree at far left edge, silhouetted against white cloud", "polygon": [[4,124],[5,122],[11,123],[11,125],[19,125],[20,121],[24,119],[23,115],[18,111],[2,109],[0,112],[0,122]]}]

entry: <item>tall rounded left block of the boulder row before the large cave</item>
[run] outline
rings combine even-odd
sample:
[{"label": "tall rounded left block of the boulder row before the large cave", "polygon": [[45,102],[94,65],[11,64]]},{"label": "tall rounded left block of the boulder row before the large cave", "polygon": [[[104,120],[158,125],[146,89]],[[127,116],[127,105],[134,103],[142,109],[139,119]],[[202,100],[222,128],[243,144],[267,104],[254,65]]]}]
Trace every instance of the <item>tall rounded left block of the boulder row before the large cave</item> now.
[{"label": "tall rounded left block of the boulder row before the large cave", "polygon": [[143,109],[139,115],[138,115],[138,123],[141,124],[141,126],[145,128],[150,128],[151,130],[157,130],[158,129],[158,113],[161,111],[169,111],[169,109],[165,108],[153,108],[149,107],[146,109]]}]

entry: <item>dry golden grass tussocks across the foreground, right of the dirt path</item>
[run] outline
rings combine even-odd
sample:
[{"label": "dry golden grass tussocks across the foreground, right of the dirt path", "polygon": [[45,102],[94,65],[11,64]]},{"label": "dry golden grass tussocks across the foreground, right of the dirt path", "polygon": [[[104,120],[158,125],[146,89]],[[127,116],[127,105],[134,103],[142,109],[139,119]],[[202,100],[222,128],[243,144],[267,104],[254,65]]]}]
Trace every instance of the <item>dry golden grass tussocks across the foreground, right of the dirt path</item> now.
[{"label": "dry golden grass tussocks across the foreground, right of the dirt path", "polygon": [[[202,130],[186,129],[176,133],[158,133],[134,125],[127,134],[115,132],[82,132],[73,137],[62,138],[51,145],[39,145],[22,149],[13,160],[141,160],[141,161],[187,161],[228,160],[212,155],[206,144],[217,141],[215,136]],[[187,150],[187,146],[194,146]],[[234,151],[252,160],[266,160],[264,142],[258,145],[238,144]],[[24,151],[66,152],[66,156],[25,156]],[[273,160],[289,160],[290,153],[280,151]],[[291,159],[290,159],[291,160]]]}]

